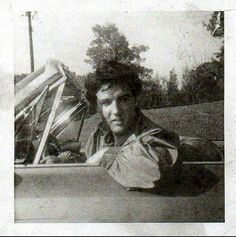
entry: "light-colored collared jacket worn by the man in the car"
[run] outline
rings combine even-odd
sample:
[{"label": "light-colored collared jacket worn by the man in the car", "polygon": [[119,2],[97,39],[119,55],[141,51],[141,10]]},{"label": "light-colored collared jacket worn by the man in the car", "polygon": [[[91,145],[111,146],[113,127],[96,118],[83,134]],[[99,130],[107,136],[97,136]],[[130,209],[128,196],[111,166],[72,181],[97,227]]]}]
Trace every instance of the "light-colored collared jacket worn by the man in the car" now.
[{"label": "light-colored collared jacket worn by the man in the car", "polygon": [[108,173],[125,187],[153,188],[181,163],[179,136],[169,132],[138,111],[135,132],[114,146],[108,126],[102,122],[85,147],[86,157],[109,147],[101,160]]}]

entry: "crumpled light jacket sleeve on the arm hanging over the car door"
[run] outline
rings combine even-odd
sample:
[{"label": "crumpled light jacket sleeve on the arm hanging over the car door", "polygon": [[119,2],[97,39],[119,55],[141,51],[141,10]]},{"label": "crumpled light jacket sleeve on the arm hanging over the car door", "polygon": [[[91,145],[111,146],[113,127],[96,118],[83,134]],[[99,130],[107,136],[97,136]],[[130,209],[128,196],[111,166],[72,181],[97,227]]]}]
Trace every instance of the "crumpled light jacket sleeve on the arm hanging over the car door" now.
[{"label": "crumpled light jacket sleeve on the arm hanging over the car door", "polygon": [[122,147],[108,150],[102,166],[125,187],[153,188],[178,159],[179,139],[160,129],[134,134]]}]

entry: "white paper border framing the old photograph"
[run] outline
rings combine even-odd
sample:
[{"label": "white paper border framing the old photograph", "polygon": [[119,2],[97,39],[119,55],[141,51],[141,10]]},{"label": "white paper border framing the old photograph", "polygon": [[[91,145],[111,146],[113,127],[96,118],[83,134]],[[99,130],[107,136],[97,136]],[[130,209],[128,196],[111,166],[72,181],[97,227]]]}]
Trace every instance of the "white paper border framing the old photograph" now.
[{"label": "white paper border framing the old photograph", "polygon": [[[225,223],[15,224],[14,223],[14,11],[225,11]],[[0,234],[1,235],[235,235],[236,234],[236,2],[42,0],[0,1]],[[234,10],[235,9],[235,10]],[[3,75],[2,75],[3,74]]]}]

